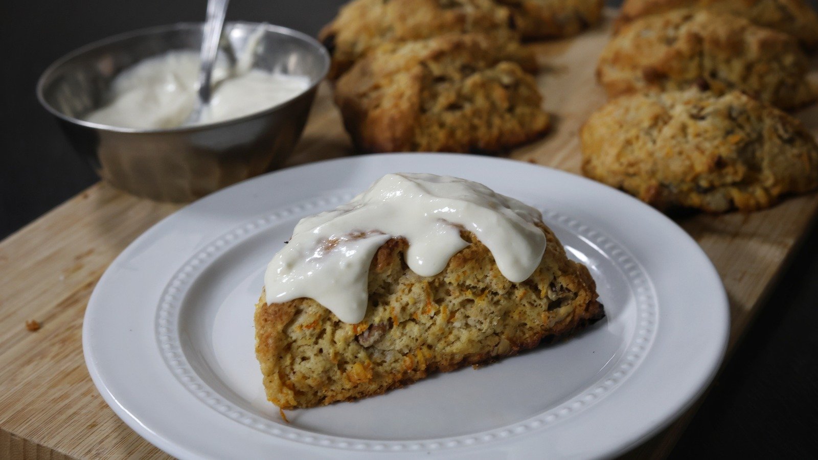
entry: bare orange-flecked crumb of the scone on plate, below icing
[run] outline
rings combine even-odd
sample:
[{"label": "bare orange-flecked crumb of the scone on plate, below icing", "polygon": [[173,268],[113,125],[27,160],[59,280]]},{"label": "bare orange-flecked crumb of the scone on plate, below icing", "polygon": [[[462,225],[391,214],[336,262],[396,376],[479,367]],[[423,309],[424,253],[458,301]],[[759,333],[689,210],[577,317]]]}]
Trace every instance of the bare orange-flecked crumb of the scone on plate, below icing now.
[{"label": "bare orange-flecked crumb of the scone on plate, below icing", "polygon": [[280,408],[380,395],[431,372],[487,363],[569,336],[605,316],[587,268],[569,260],[550,229],[542,263],[509,282],[470,232],[442,273],[407,268],[407,241],[372,260],[366,316],[340,322],[311,299],[256,305],[256,354],[267,398]]}]

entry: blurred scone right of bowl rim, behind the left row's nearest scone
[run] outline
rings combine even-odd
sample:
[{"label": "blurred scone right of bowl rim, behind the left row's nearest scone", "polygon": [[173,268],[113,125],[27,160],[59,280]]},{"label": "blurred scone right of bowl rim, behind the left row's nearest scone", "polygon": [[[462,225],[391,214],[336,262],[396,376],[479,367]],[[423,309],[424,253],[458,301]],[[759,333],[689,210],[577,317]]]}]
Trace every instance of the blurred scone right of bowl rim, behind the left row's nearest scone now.
[{"label": "blurred scone right of bowl rim, behind the left row's nearest scone", "polygon": [[[353,0],[341,7],[318,39],[332,56],[328,78],[337,79],[361,56],[383,43],[453,32],[491,34],[495,46],[516,43],[514,19],[492,0]],[[536,69],[536,61],[527,65]]]}]

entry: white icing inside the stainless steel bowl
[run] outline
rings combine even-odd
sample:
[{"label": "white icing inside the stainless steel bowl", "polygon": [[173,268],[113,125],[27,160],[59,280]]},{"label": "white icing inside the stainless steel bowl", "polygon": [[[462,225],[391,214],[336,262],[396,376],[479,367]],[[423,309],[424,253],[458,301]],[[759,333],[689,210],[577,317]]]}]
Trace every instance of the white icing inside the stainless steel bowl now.
[{"label": "white icing inside the stainless steel bowl", "polygon": [[[249,115],[276,106],[304,92],[309,79],[301,75],[270,74],[250,68],[248,56],[234,67],[224,60],[213,69],[213,96],[197,124]],[[128,67],[111,83],[109,102],[85,116],[93,123],[130,129],[169,129],[182,126],[196,104],[199,55],[173,51]]]}]

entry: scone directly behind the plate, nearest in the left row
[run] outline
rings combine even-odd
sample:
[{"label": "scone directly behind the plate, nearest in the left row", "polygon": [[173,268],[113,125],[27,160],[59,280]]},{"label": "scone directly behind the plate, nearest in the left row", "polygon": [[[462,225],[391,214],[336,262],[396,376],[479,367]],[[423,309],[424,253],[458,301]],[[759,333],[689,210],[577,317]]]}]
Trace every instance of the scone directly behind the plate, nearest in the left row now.
[{"label": "scone directly behind the plate, nearest in the left row", "polygon": [[508,57],[483,34],[385,44],[338,80],[335,103],[362,151],[502,151],[550,126]]}]

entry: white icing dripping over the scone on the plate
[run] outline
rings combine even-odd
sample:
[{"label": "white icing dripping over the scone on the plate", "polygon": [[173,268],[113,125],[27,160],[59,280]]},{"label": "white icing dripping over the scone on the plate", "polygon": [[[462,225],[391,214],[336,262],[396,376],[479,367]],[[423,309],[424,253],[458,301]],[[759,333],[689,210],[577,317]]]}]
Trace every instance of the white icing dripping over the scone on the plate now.
[{"label": "white icing dripping over the scone on the plate", "polygon": [[540,264],[542,214],[480,183],[434,174],[387,174],[346,205],[301,219],[267,265],[267,304],[316,300],[343,322],[366,314],[369,267],[393,237],[406,238],[409,268],[431,277],[468,246],[461,229],[488,247],[497,268],[522,282]]}]

